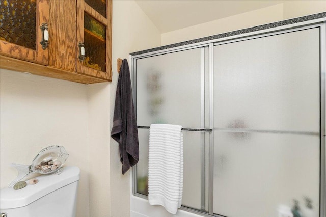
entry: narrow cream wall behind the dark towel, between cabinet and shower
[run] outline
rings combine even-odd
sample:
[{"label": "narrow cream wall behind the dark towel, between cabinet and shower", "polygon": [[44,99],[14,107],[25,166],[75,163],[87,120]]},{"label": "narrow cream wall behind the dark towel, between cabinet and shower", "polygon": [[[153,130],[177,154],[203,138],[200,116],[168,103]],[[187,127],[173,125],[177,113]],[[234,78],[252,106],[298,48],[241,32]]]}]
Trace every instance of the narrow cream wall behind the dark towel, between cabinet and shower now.
[{"label": "narrow cream wall behind the dark towel, between cabinet and shower", "polygon": [[[112,84],[110,85],[110,123],[113,111],[118,73],[115,62],[117,58],[127,59],[129,53],[160,46],[160,33],[139,6],[132,1],[113,1],[113,61]],[[130,216],[130,174],[122,175],[118,143],[110,139],[110,183],[111,216]],[[106,215],[98,215],[106,216]]]}]

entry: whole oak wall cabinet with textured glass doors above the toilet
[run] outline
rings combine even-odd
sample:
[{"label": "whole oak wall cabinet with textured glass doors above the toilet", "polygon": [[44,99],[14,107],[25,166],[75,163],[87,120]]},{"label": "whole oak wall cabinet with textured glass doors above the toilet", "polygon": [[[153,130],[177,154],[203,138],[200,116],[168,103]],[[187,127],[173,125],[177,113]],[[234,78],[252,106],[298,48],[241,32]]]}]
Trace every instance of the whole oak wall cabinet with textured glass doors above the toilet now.
[{"label": "whole oak wall cabinet with textured glass doors above the toilet", "polygon": [[[28,59],[28,55],[21,55],[24,52],[16,55],[17,52],[12,51],[17,50],[16,47],[19,47],[20,50],[23,50],[24,47],[0,38],[0,68],[84,84],[112,80],[112,0],[24,1],[36,1],[39,6],[42,6],[39,7],[39,11],[42,13],[38,12],[36,16],[42,15],[42,19],[37,18],[40,20],[38,22],[48,20],[48,48],[43,50],[42,53],[45,54],[42,59],[35,58],[40,55],[30,54],[31,49],[28,49],[25,52],[34,58]],[[87,3],[95,4],[95,7],[93,8]],[[96,10],[98,3],[106,4],[106,16],[102,15],[103,13],[105,15],[105,8],[104,12],[101,12],[102,14],[97,11],[98,9]],[[101,8],[103,9],[103,7]],[[43,14],[45,15],[43,16]],[[98,30],[98,26],[101,31]],[[38,29],[37,26],[37,31],[39,31]],[[98,37],[98,32],[102,33],[102,37]],[[38,37],[42,37],[40,31]],[[38,39],[37,44],[40,41]],[[78,46],[79,44],[85,45],[83,48],[85,56],[84,58],[82,56],[82,60],[80,60],[82,47]],[[42,61],[38,61],[39,59]]]}]

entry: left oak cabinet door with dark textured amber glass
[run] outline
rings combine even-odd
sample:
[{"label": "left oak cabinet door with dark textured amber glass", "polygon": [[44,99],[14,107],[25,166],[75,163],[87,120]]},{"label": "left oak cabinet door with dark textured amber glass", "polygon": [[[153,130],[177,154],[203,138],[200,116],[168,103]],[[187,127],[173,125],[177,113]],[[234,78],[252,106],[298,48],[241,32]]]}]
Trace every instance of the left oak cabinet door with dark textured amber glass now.
[{"label": "left oak cabinet door with dark textured amber glass", "polygon": [[47,65],[40,26],[48,23],[48,0],[3,0],[0,11],[0,55]]}]

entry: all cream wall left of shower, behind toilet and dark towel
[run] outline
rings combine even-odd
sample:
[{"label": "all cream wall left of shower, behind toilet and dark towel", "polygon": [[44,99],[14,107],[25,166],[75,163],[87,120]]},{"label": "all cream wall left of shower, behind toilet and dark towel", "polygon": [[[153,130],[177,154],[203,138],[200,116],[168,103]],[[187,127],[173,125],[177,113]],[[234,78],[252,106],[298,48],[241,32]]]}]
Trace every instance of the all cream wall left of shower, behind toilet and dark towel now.
[{"label": "all cream wall left of shower, behind toilet and dark towel", "polygon": [[48,145],[63,145],[81,169],[78,217],[129,216],[129,172],[111,139],[117,58],[160,46],[160,33],[133,0],[113,1],[113,81],[83,85],[0,69],[0,187]]}]

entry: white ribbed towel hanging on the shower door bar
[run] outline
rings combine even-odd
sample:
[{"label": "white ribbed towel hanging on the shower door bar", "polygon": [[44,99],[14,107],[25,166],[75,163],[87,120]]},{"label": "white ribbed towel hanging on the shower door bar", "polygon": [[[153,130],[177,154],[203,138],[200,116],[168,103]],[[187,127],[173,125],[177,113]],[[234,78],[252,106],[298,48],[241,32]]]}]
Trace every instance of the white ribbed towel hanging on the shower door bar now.
[{"label": "white ribbed towel hanging on the shower door bar", "polygon": [[152,124],[149,130],[148,201],[176,214],[183,190],[181,126]]}]

